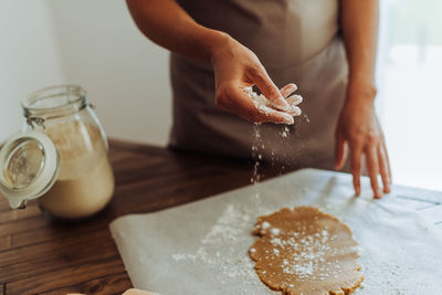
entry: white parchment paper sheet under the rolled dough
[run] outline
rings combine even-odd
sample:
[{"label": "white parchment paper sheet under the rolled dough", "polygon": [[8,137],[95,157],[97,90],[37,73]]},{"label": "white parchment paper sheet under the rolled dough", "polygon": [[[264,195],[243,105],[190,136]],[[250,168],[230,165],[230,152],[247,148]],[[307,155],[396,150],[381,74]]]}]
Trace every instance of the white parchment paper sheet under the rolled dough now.
[{"label": "white parchment paper sheet under the rolled dough", "polygon": [[112,234],[135,287],[168,294],[276,294],[248,249],[256,217],[299,204],[346,222],[359,242],[356,294],[442,294],[441,192],[394,187],[373,200],[368,179],[305,169],[173,209],[122,217]]}]

